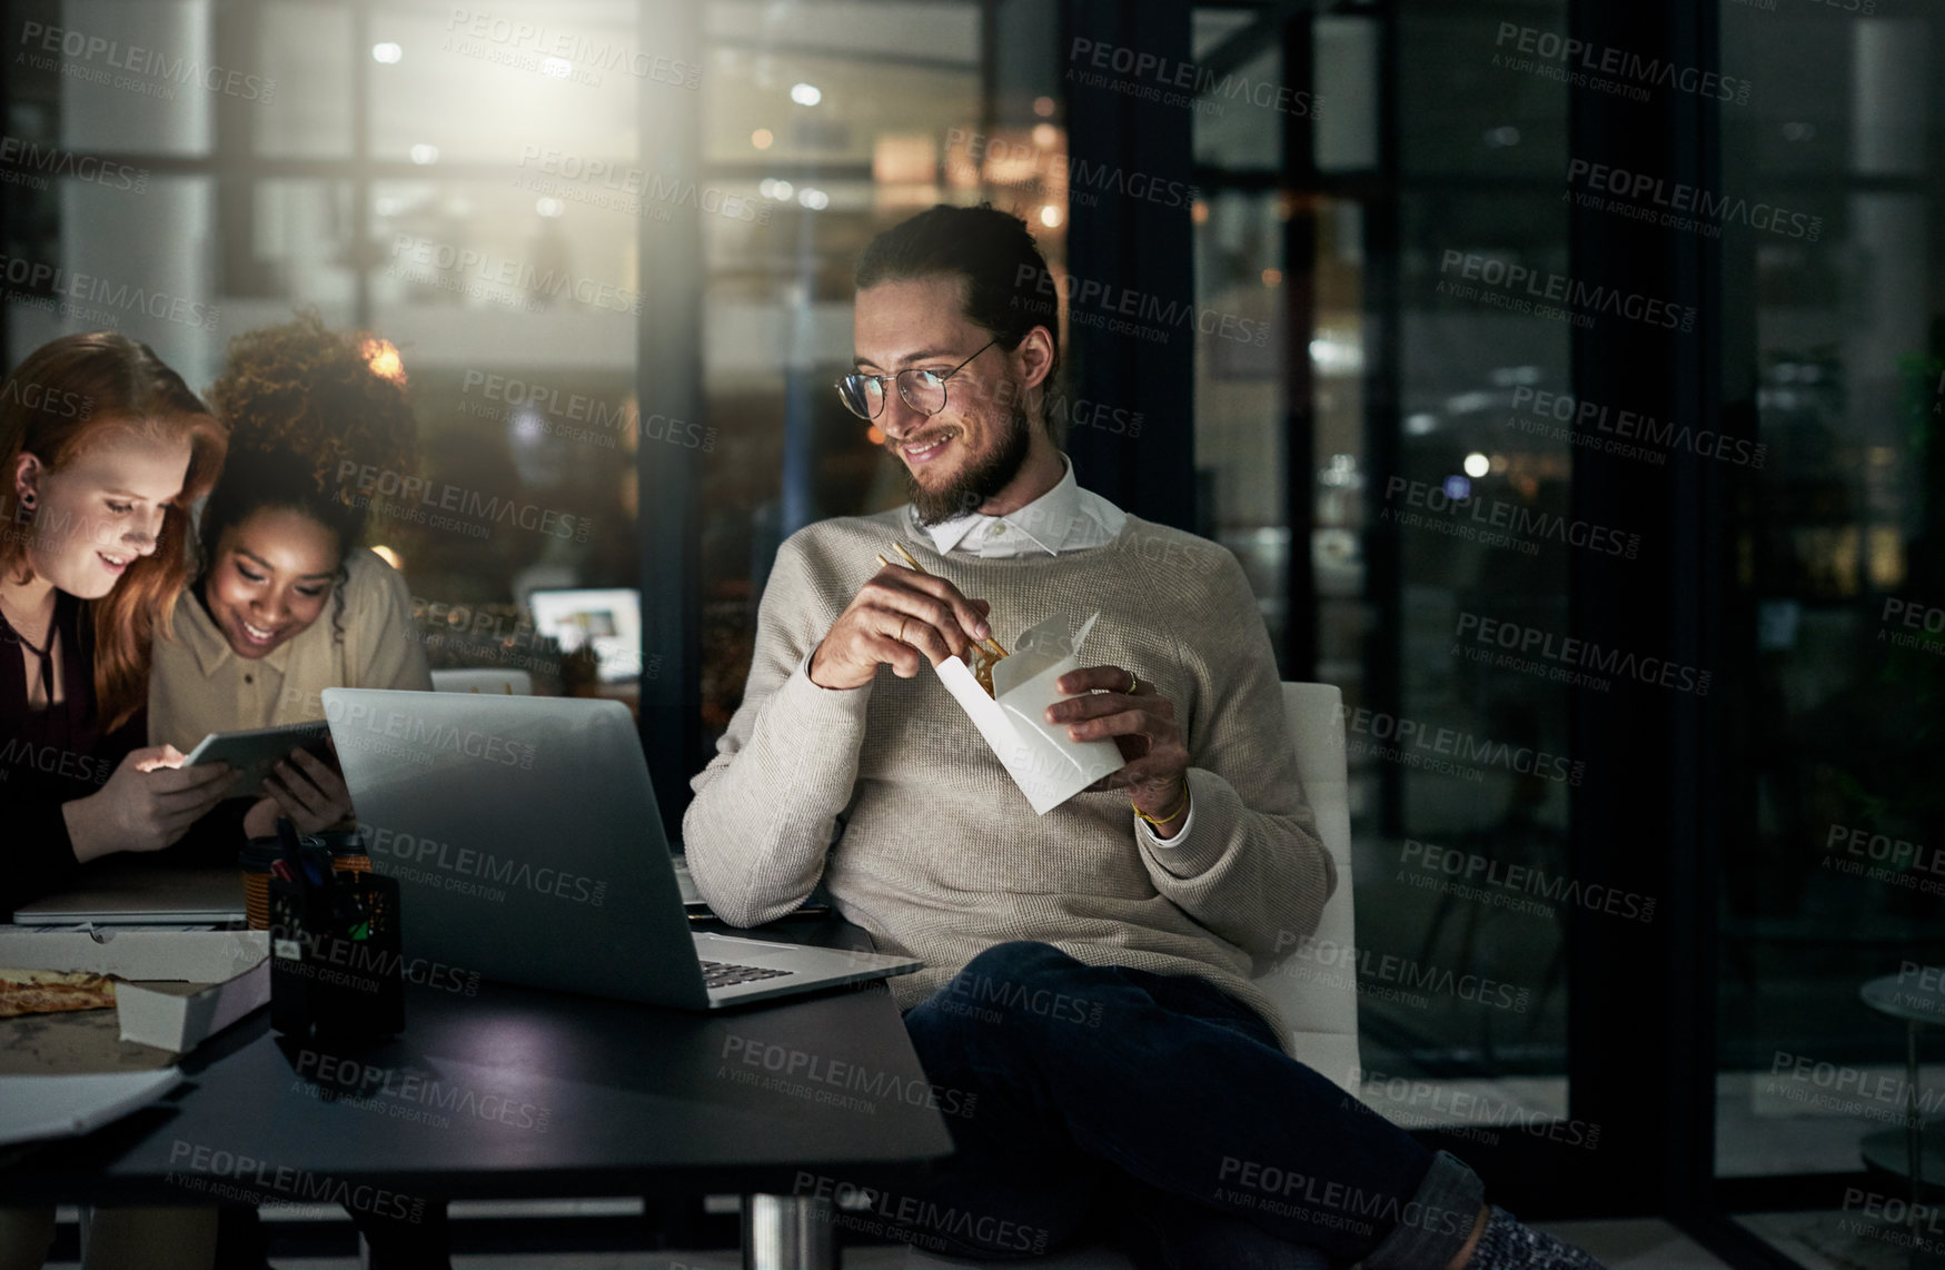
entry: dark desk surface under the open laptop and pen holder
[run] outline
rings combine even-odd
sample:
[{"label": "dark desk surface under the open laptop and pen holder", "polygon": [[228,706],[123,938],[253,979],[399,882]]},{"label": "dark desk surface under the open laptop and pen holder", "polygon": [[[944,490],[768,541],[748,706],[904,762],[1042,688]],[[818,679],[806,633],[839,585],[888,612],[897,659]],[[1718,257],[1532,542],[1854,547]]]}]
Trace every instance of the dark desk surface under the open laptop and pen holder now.
[{"label": "dark desk surface under the open laptop and pen holder", "polygon": [[[825,930],[782,937],[842,941]],[[751,1062],[755,1060],[755,1062]],[[189,1081],[0,1167],[33,1200],[346,1202],[803,1188],[926,1167],[951,1136],[881,988],[685,1013],[478,984],[407,988],[407,1033],[303,1048],[259,1011]],[[340,1097],[342,1093],[342,1097]],[[829,1192],[827,1192],[829,1194]],[[358,1196],[354,1194],[356,1202]]]}]

